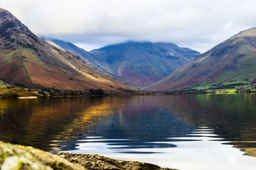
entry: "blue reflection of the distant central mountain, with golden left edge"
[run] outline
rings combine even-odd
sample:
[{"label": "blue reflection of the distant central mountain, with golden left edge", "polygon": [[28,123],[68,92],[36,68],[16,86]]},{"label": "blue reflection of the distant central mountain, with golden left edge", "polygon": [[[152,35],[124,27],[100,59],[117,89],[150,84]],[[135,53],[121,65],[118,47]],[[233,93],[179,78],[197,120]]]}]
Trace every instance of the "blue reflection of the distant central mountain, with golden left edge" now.
[{"label": "blue reflection of the distant central mountain, with golden left edge", "polygon": [[[94,139],[94,143],[104,141],[108,143],[109,148],[120,150],[168,148],[176,145],[152,142],[170,141],[166,138],[185,136],[193,131],[193,127],[186,125],[186,122],[177,120],[164,108],[157,106],[157,103],[154,104],[154,101],[152,104],[148,103],[150,101],[145,101],[145,97],[105,97],[103,101],[106,107],[87,108],[83,111],[83,116],[79,117],[79,121],[75,119],[82,128],[77,131],[84,137],[104,136],[103,139]],[[79,142],[91,143],[92,139],[85,138]],[[68,142],[62,150],[74,150],[75,147],[74,143]]]}]

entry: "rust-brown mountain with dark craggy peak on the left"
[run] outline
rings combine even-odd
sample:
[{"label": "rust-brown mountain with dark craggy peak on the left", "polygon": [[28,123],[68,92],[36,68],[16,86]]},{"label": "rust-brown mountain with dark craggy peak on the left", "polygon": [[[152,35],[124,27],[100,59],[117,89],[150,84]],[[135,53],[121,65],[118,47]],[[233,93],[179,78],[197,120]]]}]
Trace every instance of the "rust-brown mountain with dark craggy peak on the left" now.
[{"label": "rust-brown mountain with dark craggy peak on the left", "polygon": [[0,80],[28,87],[134,90],[100,73],[81,57],[47,43],[17,18],[0,9]]}]

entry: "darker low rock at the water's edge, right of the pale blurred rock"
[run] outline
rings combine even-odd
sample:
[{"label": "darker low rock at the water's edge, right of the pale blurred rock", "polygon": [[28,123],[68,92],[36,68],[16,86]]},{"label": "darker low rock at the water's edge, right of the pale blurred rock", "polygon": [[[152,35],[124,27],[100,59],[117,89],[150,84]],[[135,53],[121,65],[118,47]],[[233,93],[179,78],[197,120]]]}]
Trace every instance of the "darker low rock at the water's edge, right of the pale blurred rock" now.
[{"label": "darker low rock at the water's edge, right of the pale blurred rock", "polygon": [[72,153],[57,153],[58,156],[63,157],[70,162],[81,164],[88,169],[131,169],[131,170],[153,170],[153,169],[168,169],[161,168],[154,164],[148,164],[144,162],[137,161],[125,161],[125,160],[115,160],[108,157],[103,157],[100,155],[90,155],[90,154],[72,154]]}]

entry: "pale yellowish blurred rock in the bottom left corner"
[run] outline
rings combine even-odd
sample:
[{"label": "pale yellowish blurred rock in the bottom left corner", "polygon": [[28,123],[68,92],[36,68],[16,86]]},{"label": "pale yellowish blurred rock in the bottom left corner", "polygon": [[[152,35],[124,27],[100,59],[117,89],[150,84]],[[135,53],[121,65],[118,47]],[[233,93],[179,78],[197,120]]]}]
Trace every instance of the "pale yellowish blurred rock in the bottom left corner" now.
[{"label": "pale yellowish blurred rock in the bottom left corner", "polygon": [[86,168],[33,147],[12,145],[0,141],[0,169],[85,170]]}]

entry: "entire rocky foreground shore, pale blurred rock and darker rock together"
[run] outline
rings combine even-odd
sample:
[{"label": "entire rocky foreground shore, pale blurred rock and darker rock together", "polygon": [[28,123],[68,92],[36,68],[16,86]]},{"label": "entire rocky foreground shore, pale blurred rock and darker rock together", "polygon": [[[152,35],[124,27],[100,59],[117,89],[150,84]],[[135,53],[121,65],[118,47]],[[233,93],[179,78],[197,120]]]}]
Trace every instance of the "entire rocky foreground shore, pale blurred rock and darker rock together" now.
[{"label": "entire rocky foreground shore, pale blurred rock and darker rock together", "polygon": [[0,169],[131,169],[160,170],[154,164],[137,161],[115,160],[100,155],[49,152],[15,144],[15,141],[0,134]]}]

